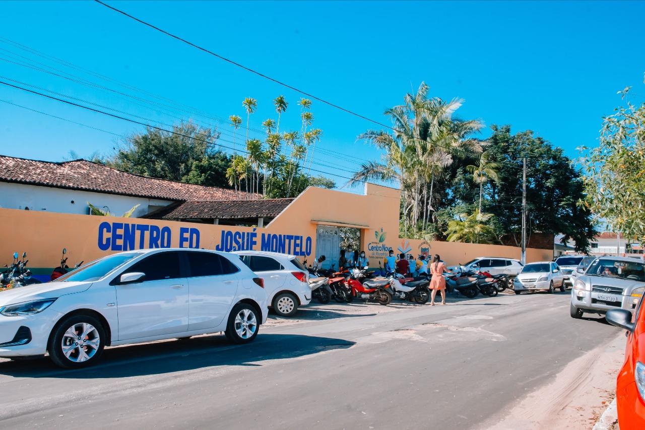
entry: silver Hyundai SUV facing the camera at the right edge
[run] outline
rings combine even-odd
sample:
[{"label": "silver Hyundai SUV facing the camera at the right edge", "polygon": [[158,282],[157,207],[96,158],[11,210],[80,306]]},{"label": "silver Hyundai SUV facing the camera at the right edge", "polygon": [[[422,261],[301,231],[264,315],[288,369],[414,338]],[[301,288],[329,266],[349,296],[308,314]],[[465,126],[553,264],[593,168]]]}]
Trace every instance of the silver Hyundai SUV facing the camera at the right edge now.
[{"label": "silver Hyundai SUV facing the camera at the right edge", "polygon": [[584,312],[604,314],[611,309],[633,312],[645,292],[645,265],[626,257],[599,257],[571,290],[571,317]]}]

